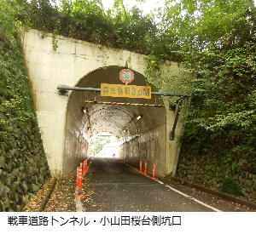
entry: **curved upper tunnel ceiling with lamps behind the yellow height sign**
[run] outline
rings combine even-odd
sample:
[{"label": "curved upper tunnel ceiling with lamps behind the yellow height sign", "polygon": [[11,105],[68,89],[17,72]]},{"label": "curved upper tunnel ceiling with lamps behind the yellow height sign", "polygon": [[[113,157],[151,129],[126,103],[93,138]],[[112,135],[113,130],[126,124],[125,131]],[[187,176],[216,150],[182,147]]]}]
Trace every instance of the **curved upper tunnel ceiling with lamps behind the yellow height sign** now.
[{"label": "curved upper tunnel ceiling with lamps behind the yellow height sign", "polygon": [[[84,76],[77,87],[101,88],[101,83],[124,84],[119,80],[119,72],[125,69],[119,66],[108,66]],[[134,72],[131,85],[147,85],[142,74]],[[129,84],[128,84],[129,85]],[[129,140],[140,134],[166,123],[164,107],[116,106],[89,104],[85,100],[110,101],[121,103],[148,103],[164,105],[160,96],[152,96],[151,100],[101,97],[99,92],[73,91],[67,106],[67,125],[79,128],[86,140],[95,134],[108,132],[119,140]],[[85,108],[85,113],[84,113]],[[137,117],[141,116],[137,120]]]}]

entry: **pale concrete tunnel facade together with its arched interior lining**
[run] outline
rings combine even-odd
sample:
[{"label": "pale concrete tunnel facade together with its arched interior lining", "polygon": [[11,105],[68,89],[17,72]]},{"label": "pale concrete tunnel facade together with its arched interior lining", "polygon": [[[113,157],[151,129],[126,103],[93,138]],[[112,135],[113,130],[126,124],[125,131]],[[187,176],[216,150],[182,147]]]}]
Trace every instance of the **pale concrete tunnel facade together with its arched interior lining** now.
[{"label": "pale concrete tunnel facade together with its arched interior lining", "polygon": [[[57,90],[60,84],[85,88],[100,88],[101,83],[123,84],[119,72],[126,66],[135,75],[131,85],[147,85],[143,75],[146,56],[62,36],[55,38],[58,48],[54,50],[52,40],[52,34],[36,30],[25,31],[22,37],[38,125],[52,175],[66,176],[84,158],[90,157],[90,139],[101,132],[113,134],[119,140],[121,159],[137,166],[140,160],[147,162],[148,170],[155,163],[156,174],[172,174],[182,125],[177,125],[175,140],[169,140],[176,111],[169,110],[167,97],[113,98],[88,91],[69,91],[66,96],[59,95]],[[183,68],[166,61],[162,69],[172,76]],[[85,103],[85,100],[166,107],[110,106]]]}]

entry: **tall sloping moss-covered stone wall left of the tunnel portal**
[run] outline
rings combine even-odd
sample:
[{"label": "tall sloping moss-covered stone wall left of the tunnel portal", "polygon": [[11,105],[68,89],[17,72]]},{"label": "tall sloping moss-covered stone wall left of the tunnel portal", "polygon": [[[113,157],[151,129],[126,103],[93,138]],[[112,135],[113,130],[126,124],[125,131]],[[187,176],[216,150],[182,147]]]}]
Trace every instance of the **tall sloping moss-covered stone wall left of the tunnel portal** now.
[{"label": "tall sloping moss-covered stone wall left of the tunnel portal", "polygon": [[50,178],[19,32],[8,5],[0,15],[0,211],[21,211]]}]

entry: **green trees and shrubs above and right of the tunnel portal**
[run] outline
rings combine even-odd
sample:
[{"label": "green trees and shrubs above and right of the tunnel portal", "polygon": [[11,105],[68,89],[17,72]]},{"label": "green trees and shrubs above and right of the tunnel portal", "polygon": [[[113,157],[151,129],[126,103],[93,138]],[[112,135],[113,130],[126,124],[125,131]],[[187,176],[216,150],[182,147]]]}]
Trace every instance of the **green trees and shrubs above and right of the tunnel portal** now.
[{"label": "green trees and shrubs above and right of the tunnel portal", "polygon": [[[149,54],[148,82],[155,86],[161,85],[161,60],[182,63],[195,77],[192,84],[184,77],[181,85],[193,94],[183,153],[217,158],[225,176],[240,166],[239,159],[252,157],[247,167],[256,174],[253,0],[165,0],[152,14],[128,9],[122,0],[115,0],[109,10],[102,8],[101,0],[62,0],[60,5],[49,0],[3,2],[12,6],[6,17],[13,17],[16,26]],[[15,25],[1,25],[1,33],[6,29],[13,37]],[[53,44],[57,49],[55,40]],[[173,91],[172,79],[165,83]]]}]

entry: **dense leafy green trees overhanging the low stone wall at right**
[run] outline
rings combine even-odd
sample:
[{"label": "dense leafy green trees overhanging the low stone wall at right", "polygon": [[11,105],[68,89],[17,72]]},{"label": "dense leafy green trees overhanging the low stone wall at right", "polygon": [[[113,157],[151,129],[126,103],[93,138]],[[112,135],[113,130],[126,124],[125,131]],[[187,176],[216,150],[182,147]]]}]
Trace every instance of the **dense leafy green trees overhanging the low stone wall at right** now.
[{"label": "dense leafy green trees overhanging the low stone wall at right", "polygon": [[256,151],[253,1],[166,3],[163,37],[176,38],[176,59],[195,73],[183,144],[232,174]]}]

